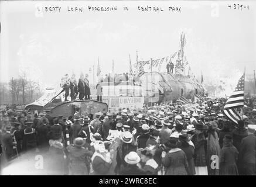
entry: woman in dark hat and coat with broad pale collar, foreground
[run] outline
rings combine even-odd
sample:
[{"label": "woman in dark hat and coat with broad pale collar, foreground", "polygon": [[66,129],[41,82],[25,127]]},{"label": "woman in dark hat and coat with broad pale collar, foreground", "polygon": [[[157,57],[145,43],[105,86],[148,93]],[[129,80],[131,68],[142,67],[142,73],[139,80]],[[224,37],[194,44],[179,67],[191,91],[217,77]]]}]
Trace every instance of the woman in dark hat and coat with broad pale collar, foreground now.
[{"label": "woman in dark hat and coat with broad pale collar, foreground", "polygon": [[178,148],[178,138],[170,137],[168,147],[170,151],[163,161],[163,166],[166,168],[165,175],[187,175],[187,158],[186,154]]}]

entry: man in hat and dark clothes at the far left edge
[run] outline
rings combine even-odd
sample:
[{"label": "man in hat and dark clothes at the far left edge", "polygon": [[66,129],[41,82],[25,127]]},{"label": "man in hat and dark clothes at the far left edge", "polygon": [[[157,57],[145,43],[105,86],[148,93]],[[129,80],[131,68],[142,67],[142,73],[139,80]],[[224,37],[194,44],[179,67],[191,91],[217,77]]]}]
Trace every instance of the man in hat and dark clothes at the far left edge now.
[{"label": "man in hat and dark clothes at the far left edge", "polygon": [[6,160],[11,160],[11,157],[14,154],[13,146],[16,146],[16,141],[13,141],[12,134],[11,134],[11,126],[5,127],[5,132],[2,134],[1,137],[2,143],[2,151],[5,154]]}]

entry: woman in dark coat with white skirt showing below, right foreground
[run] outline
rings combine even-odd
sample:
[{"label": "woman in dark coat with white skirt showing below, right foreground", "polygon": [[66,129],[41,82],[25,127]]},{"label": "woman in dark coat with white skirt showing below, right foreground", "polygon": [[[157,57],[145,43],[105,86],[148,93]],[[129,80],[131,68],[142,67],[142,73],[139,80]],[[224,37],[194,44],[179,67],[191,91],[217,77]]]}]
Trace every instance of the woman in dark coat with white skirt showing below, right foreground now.
[{"label": "woman in dark coat with white skirt showing below, right foreground", "polygon": [[194,166],[196,169],[196,175],[208,175],[206,163],[207,141],[203,130],[203,124],[195,124],[195,133],[192,137],[192,142],[194,144]]}]

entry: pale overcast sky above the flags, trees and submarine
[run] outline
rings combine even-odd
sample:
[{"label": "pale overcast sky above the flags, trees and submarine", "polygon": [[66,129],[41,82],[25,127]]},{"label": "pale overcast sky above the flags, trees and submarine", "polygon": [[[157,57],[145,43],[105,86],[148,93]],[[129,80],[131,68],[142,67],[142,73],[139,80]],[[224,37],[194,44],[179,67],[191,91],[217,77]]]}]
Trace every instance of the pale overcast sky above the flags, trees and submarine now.
[{"label": "pale overcast sky above the flags, trees and submarine", "polygon": [[[38,1],[1,1],[1,81],[18,77],[26,68],[43,85],[59,84],[64,74],[88,73],[100,58],[101,71],[129,71],[129,54],[136,60],[162,58],[179,50],[185,33],[185,55],[194,74],[204,80],[238,79],[256,69],[256,2],[248,8],[228,8],[228,2],[204,1],[83,1],[40,2],[43,7],[60,6],[60,12],[36,16]],[[41,6],[39,5],[39,6]],[[141,12],[138,6],[158,6],[163,12]],[[83,6],[83,12],[67,12],[67,6]],[[118,11],[89,12],[87,6],[117,6]],[[128,6],[129,11],[123,11]],[[180,12],[168,11],[178,6]],[[234,6],[234,5],[233,5]],[[214,15],[218,15],[214,17]],[[165,71],[165,63],[162,71]]]}]

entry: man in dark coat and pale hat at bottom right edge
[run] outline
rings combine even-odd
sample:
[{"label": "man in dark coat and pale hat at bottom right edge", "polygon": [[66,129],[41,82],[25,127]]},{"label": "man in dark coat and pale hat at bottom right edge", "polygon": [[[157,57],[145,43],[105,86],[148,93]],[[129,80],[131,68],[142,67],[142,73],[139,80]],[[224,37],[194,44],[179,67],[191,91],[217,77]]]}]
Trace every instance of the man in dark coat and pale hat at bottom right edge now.
[{"label": "man in dark coat and pale hat at bottom right edge", "polygon": [[243,138],[238,155],[238,171],[242,175],[255,175],[256,165],[256,125],[248,124],[248,136]]}]

